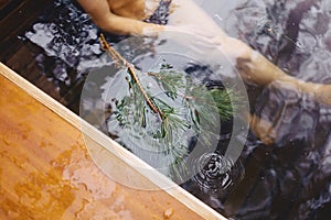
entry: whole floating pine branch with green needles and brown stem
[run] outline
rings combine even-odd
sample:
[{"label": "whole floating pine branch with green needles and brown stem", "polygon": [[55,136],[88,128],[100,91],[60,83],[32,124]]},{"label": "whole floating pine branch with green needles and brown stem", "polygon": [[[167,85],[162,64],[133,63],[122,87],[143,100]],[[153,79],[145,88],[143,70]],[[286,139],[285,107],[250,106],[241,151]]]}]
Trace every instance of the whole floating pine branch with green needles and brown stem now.
[{"label": "whole floating pine branch with green needles and brown stem", "polygon": [[[211,140],[220,135],[217,122],[232,119],[241,97],[231,89],[209,89],[167,63],[157,72],[140,73],[103,35],[100,43],[116,66],[128,74],[128,95],[116,98],[110,124],[125,131],[120,134],[126,147],[182,182],[189,173],[185,158],[192,151],[192,138],[199,136],[203,146],[212,147]],[[149,84],[142,84],[145,80]]]}]

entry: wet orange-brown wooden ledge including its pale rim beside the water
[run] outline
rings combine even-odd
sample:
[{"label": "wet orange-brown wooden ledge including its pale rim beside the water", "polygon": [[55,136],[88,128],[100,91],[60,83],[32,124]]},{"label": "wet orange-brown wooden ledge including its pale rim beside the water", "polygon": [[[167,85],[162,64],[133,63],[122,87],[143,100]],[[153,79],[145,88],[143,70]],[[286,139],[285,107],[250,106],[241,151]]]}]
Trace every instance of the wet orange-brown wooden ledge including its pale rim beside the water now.
[{"label": "wet orange-brown wooden ledge including its pale rim beside the water", "polygon": [[[225,219],[1,63],[0,106],[0,219]],[[172,187],[117,184],[93,163],[86,142],[108,152],[119,174]]]}]

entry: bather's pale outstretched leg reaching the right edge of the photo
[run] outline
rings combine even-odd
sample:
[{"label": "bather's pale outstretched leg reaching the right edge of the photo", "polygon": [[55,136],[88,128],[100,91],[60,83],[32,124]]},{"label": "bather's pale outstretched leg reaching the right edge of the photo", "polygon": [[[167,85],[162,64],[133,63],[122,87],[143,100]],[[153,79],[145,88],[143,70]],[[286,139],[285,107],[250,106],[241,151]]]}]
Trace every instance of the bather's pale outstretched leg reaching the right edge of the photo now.
[{"label": "bather's pale outstretched leg reaching the right edge of the photo", "polygon": [[173,10],[169,24],[179,28],[190,26],[193,34],[199,32],[196,34],[202,36],[212,36],[217,48],[236,65],[246,82],[266,85],[274,80],[282,80],[302,92],[314,96],[319,101],[331,105],[331,85],[307,82],[287,75],[244,42],[227,36],[193,0],[172,0],[172,2]]}]

